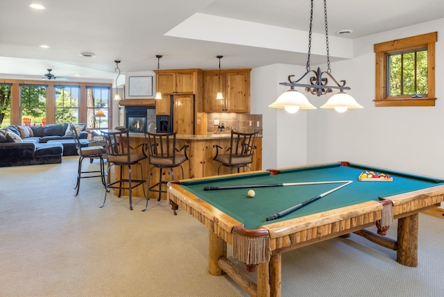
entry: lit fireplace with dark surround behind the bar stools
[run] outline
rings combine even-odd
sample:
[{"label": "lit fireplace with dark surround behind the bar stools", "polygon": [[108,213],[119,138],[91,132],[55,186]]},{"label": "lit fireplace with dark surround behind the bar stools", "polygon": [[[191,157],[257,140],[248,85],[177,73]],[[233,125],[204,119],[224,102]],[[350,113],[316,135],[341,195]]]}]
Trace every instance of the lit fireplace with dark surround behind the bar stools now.
[{"label": "lit fireplace with dark surround behind the bar stools", "polygon": [[125,112],[126,128],[130,133],[145,133],[155,126],[155,106],[126,106]]}]

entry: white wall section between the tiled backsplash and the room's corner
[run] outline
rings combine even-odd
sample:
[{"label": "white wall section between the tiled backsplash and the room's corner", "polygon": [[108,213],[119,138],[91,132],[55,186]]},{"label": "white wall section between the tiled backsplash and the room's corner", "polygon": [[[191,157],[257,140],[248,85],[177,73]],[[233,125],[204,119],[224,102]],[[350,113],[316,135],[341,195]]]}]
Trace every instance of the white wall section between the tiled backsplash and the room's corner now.
[{"label": "white wall section between the tiled backsplash and the room's corner", "polygon": [[262,114],[262,169],[307,164],[307,110],[289,114],[281,109],[268,108],[288,87],[289,74],[299,74],[305,67],[269,65],[251,72],[251,110]]}]

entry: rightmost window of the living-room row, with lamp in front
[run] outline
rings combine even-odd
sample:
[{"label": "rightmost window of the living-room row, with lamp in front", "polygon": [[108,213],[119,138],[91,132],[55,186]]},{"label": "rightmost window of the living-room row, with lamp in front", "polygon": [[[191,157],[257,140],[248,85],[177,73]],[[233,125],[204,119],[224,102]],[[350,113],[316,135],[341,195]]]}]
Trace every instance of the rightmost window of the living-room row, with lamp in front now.
[{"label": "rightmost window of the living-room row, with lamp in front", "polygon": [[[110,94],[109,87],[87,87],[87,128],[108,128]],[[99,110],[103,117],[96,117]]]}]

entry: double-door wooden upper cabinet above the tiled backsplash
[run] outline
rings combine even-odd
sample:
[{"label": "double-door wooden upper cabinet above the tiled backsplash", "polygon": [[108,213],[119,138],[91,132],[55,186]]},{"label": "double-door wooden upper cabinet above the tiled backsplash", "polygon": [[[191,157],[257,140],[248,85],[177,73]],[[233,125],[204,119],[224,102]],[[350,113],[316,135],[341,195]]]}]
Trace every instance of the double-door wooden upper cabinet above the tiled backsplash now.
[{"label": "double-door wooden upper cabinet above the tiled backsplash", "polygon": [[250,71],[221,70],[222,100],[216,99],[219,70],[204,71],[204,112],[250,112]]}]

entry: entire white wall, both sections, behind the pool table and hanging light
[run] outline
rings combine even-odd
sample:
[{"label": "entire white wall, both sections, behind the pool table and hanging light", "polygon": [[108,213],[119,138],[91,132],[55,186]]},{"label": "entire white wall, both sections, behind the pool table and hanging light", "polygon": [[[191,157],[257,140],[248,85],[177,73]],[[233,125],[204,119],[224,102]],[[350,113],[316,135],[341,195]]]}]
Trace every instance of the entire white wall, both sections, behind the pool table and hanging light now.
[{"label": "entire white wall, both sections, behind the pool table and hanging light", "polygon": [[[373,44],[434,31],[438,31],[436,106],[375,108]],[[444,43],[440,31],[444,31],[444,19],[355,40],[355,58],[333,62],[331,69],[337,80],[347,80],[352,88],[348,93],[364,109],[343,114],[318,108],[291,115],[268,108],[285,90],[278,83],[289,74],[302,75],[305,67],[271,65],[253,69],[252,113],[264,114],[264,169],[348,160],[444,178]],[[328,98],[308,97],[317,107]]]}]

